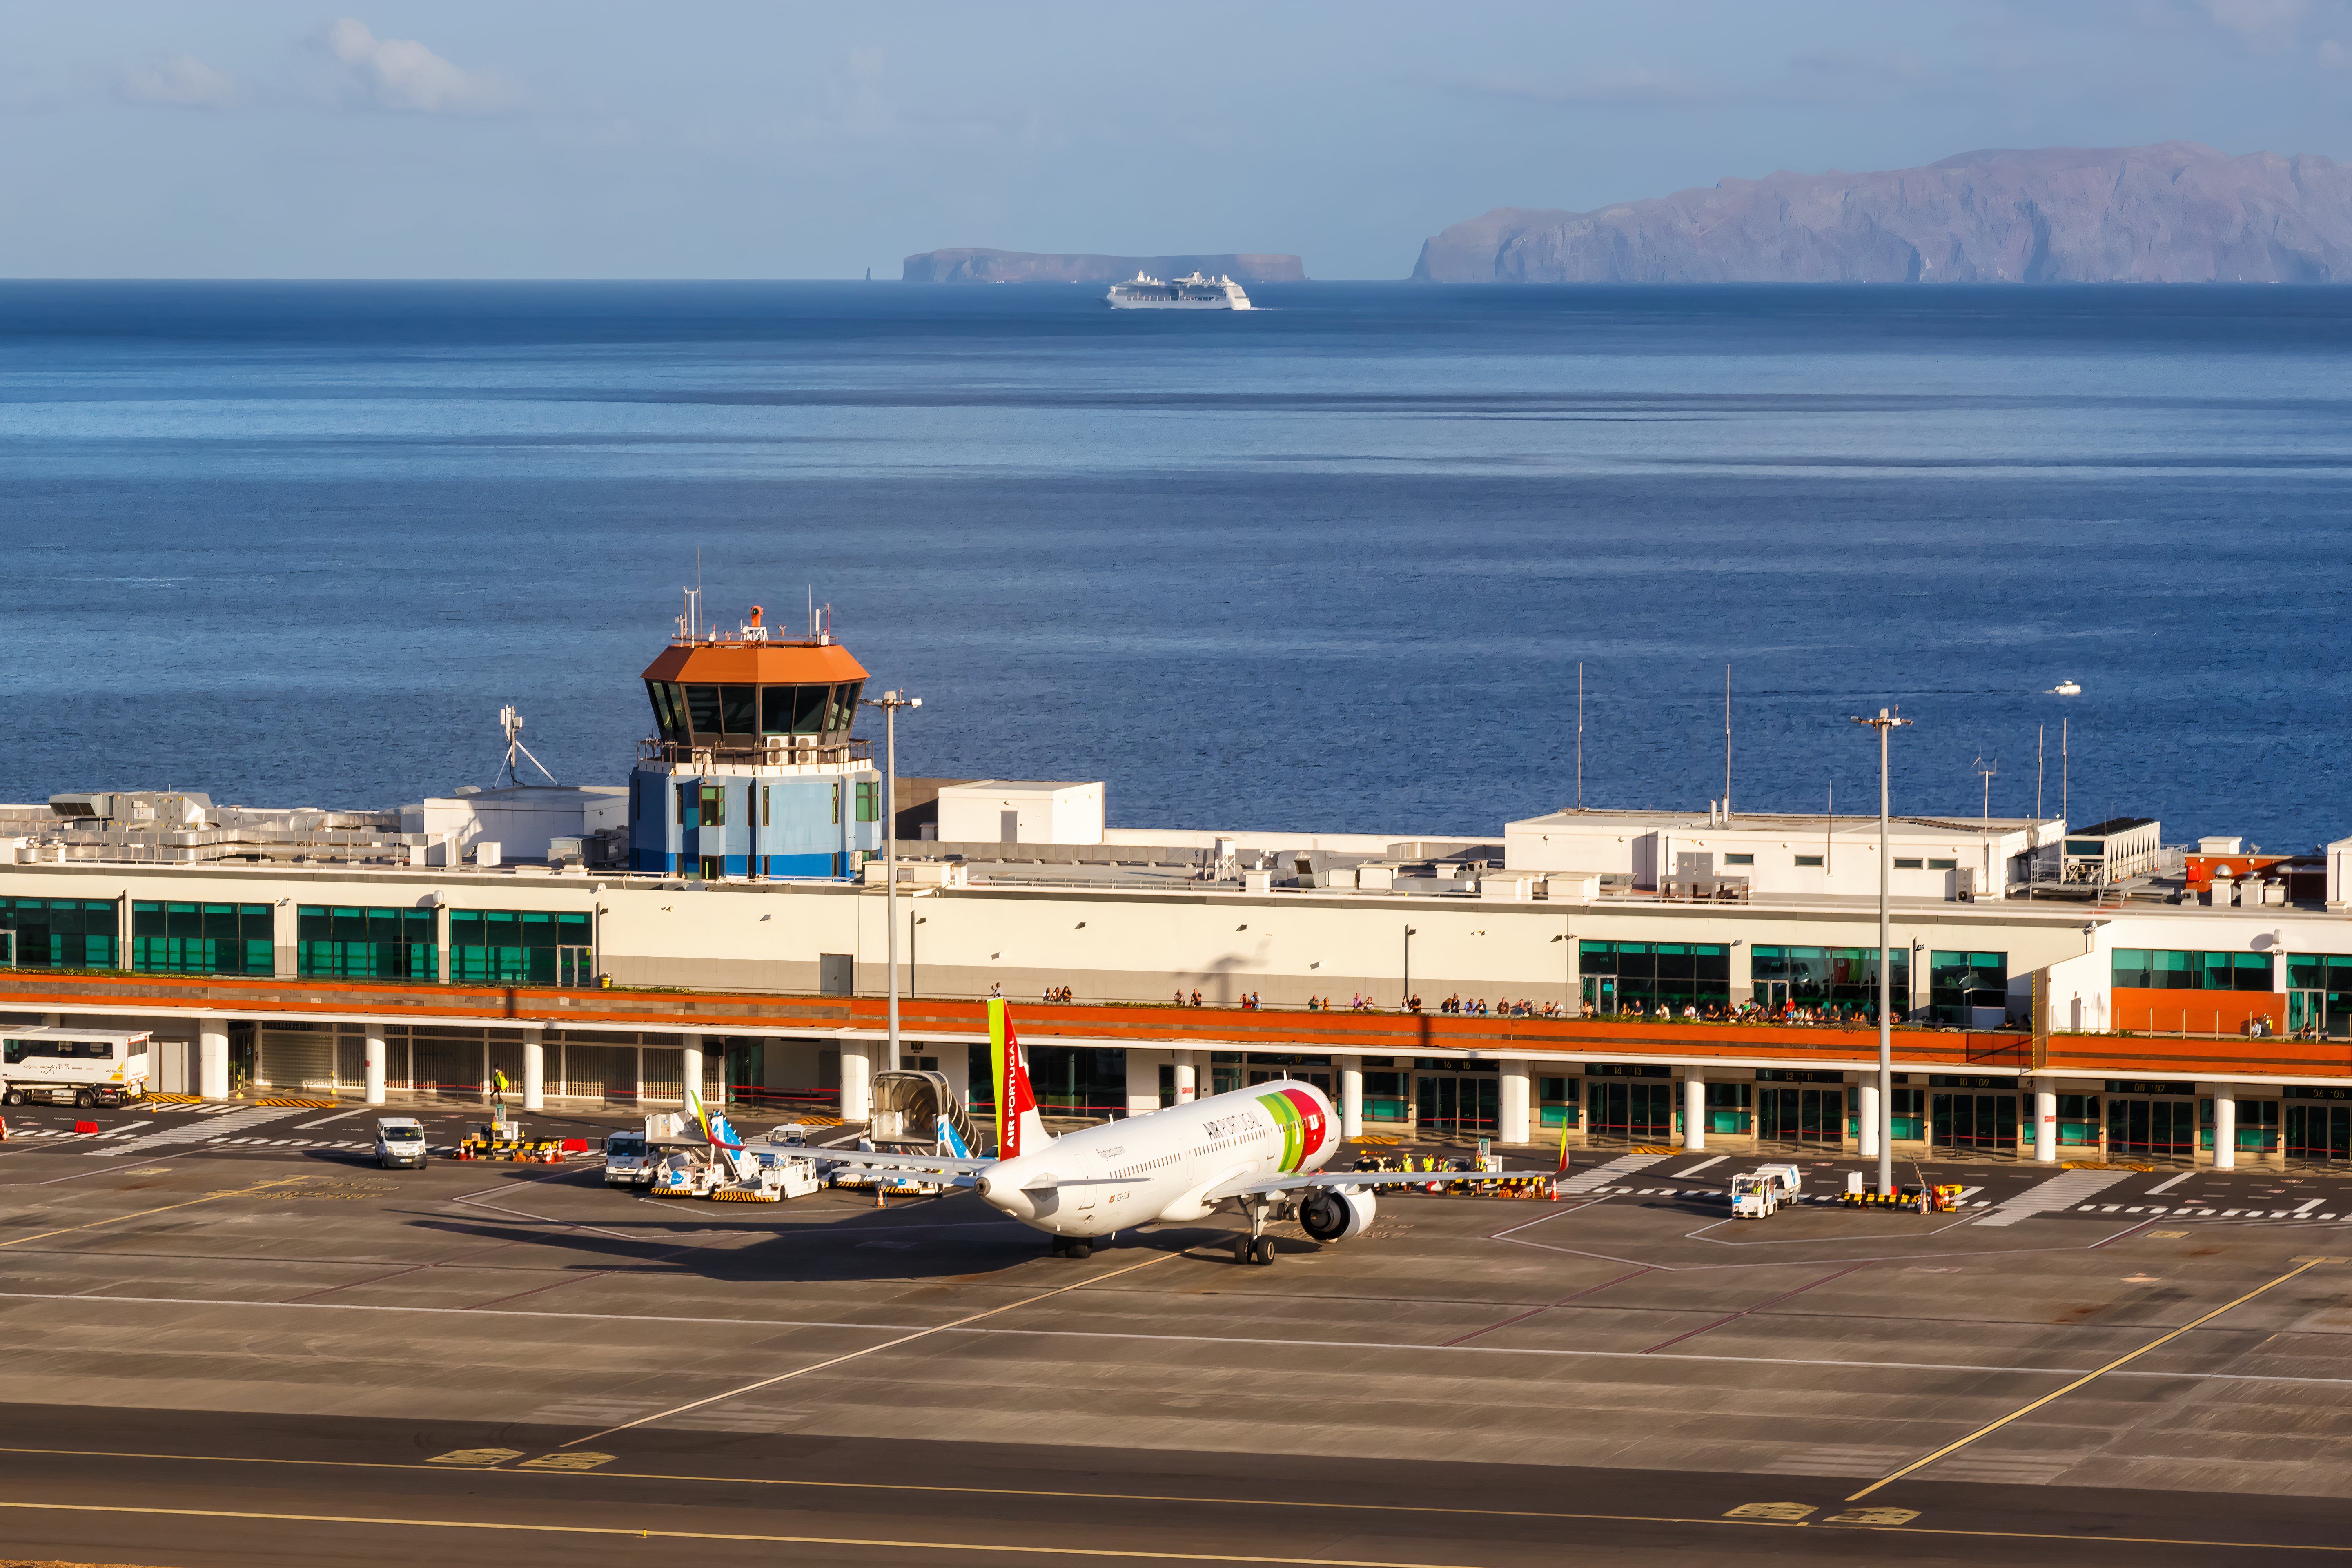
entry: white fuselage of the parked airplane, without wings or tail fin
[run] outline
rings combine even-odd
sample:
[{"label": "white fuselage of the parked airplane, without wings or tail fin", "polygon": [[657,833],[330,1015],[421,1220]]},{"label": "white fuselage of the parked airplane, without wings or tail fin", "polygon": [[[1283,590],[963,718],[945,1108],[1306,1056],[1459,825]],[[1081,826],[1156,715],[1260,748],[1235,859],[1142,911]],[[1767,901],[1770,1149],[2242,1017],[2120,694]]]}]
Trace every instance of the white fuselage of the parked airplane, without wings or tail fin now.
[{"label": "white fuselage of the parked airplane, without wings or tail fin", "polygon": [[1056,1237],[1108,1237],[1150,1220],[1202,1220],[1204,1194],[1235,1180],[1319,1171],[1341,1147],[1338,1114],[1312,1084],[1277,1079],[1105,1121],[1000,1159],[978,1194]]}]

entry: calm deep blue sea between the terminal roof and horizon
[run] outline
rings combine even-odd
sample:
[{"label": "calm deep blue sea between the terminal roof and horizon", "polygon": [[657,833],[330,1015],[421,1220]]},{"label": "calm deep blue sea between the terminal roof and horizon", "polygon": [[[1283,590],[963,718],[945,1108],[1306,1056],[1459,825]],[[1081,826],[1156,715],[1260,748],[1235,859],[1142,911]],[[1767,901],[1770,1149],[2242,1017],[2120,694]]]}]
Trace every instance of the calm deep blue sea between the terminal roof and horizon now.
[{"label": "calm deep blue sea between the terminal roof and horizon", "polygon": [[1498,832],[1578,668],[1703,809],[1729,665],[1740,809],[2352,832],[2352,292],[1098,294],[0,284],[0,797],[619,783],[699,581],[1120,825]]}]

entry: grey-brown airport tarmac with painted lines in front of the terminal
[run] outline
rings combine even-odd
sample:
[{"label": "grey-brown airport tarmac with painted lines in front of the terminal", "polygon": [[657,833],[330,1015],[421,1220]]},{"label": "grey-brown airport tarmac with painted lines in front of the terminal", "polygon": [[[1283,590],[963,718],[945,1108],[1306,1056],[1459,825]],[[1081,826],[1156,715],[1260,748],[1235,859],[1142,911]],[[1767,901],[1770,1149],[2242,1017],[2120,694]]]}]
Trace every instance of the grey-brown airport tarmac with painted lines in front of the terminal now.
[{"label": "grey-brown airport tarmac with painted lines in front of the terminal", "polygon": [[1559,1201],[1383,1197],[1247,1267],[1221,1220],[1058,1260],[969,1194],[376,1171],[358,1107],[9,1128],[0,1556],[2352,1554],[2340,1171],[1957,1161],[1917,1175],[1959,1213],[1731,1220],[1750,1157],[1592,1154]]}]

